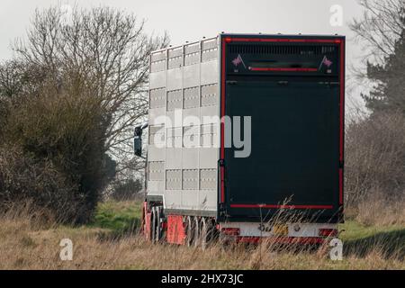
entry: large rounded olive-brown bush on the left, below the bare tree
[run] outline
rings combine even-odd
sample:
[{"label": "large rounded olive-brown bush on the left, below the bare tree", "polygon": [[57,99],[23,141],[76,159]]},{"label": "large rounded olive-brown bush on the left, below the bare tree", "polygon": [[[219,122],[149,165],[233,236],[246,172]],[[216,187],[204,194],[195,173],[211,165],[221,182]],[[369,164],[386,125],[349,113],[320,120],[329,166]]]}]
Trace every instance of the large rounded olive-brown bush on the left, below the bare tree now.
[{"label": "large rounded olive-brown bush on the left, below the bare tree", "polygon": [[[105,153],[109,121],[85,82],[52,82],[10,106],[3,127],[0,202],[30,200],[60,221],[90,219],[114,162]],[[3,203],[3,205],[4,205]]]}]

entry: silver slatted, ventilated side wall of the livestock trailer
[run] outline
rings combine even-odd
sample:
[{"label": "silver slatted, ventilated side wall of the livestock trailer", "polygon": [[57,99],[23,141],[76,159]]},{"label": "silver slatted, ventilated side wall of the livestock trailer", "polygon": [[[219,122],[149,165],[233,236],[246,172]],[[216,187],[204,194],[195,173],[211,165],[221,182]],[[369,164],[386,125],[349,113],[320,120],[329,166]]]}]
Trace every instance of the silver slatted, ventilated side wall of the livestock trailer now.
[{"label": "silver slatted, ventilated side wall of the livestock trailer", "polygon": [[219,53],[216,37],[150,56],[147,193],[165,210],[216,213]]}]

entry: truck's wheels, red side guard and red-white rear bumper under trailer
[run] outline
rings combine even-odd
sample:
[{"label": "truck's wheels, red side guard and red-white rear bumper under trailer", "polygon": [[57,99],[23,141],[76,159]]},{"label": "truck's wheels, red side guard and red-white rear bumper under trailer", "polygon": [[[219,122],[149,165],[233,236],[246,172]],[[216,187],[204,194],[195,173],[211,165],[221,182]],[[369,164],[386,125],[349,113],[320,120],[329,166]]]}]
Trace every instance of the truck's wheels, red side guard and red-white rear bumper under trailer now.
[{"label": "truck's wheels, red side guard and red-white rear bumper under trailer", "polygon": [[152,242],[207,247],[213,241],[320,245],[338,236],[338,224],[313,222],[219,222],[214,217],[179,214],[164,215],[161,203],[144,202],[142,233]]}]

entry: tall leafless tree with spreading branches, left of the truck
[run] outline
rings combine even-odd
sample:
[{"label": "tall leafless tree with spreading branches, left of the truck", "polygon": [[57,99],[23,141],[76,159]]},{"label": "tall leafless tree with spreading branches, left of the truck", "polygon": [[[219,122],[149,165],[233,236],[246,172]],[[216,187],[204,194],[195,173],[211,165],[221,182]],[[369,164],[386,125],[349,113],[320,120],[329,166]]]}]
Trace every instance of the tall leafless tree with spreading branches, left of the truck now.
[{"label": "tall leafless tree with spreading branches, left of the truck", "polygon": [[120,173],[143,166],[131,157],[133,128],[147,113],[148,55],[167,43],[166,34],[148,37],[144,21],[133,14],[76,6],[66,14],[55,6],[36,11],[28,40],[16,42],[14,50],[24,63],[44,67],[60,85],[71,71],[92,82],[109,123],[105,150],[118,159]]}]

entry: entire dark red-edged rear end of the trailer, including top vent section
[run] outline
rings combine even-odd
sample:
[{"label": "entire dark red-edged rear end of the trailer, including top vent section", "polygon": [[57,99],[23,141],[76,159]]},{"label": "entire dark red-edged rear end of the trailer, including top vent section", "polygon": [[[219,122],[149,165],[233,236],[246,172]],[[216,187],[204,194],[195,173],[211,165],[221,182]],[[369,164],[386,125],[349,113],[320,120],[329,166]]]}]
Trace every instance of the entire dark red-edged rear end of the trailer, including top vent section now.
[{"label": "entire dark red-edged rear end of the trailer, including top vent section", "polygon": [[339,220],[344,39],[223,36],[221,45],[222,115],[251,117],[248,157],[223,147],[222,126],[223,215],[270,219],[284,209]]}]

